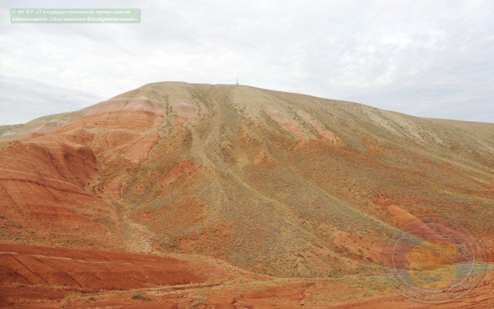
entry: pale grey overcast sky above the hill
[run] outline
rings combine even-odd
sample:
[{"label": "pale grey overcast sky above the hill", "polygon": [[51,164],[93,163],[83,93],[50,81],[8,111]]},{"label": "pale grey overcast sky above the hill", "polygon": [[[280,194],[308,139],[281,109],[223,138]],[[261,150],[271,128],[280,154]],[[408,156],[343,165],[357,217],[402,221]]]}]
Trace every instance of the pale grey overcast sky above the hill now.
[{"label": "pale grey overcast sky above the hill", "polygon": [[[494,1],[2,1],[0,125],[158,81],[240,84],[494,122]],[[11,24],[10,8],[140,8]]]}]

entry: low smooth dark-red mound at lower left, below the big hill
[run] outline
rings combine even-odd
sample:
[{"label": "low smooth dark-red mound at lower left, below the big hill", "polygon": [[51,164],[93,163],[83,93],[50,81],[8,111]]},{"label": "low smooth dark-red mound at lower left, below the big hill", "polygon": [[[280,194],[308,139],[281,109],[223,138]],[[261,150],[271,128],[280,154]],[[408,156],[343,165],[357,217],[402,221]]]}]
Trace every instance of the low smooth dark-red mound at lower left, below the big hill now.
[{"label": "low smooth dark-red mound at lower left, below the big hill", "polygon": [[2,283],[117,290],[205,280],[193,265],[173,258],[0,245]]}]

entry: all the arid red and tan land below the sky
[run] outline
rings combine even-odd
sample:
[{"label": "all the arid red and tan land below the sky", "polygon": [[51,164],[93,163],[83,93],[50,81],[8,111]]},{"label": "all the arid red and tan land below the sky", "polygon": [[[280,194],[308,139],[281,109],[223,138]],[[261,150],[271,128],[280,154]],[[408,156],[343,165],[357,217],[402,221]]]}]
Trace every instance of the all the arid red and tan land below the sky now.
[{"label": "all the arid red and tan land below the sky", "polygon": [[1,308],[489,309],[493,219],[492,123],[163,82],[0,127]]}]

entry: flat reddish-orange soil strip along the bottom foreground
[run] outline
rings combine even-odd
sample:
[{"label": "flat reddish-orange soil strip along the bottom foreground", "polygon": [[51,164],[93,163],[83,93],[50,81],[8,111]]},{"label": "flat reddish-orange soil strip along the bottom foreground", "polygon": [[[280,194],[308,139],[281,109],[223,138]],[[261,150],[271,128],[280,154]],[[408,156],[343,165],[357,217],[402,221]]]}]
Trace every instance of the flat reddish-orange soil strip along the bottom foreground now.
[{"label": "flat reddish-orange soil strip along the bottom foreground", "polygon": [[[222,281],[214,284],[189,284],[139,290],[150,300],[131,298],[132,292],[99,292],[78,289],[82,297],[67,297],[74,289],[0,285],[0,308],[16,309],[492,309],[494,273],[488,273],[469,294],[451,301],[430,304],[416,302],[389,290],[380,290],[367,280],[337,281],[274,280]],[[1,294],[0,294],[1,295]],[[382,297],[384,296],[384,297]],[[360,299],[355,302],[355,299]],[[1,302],[3,300],[3,303]]]}]

